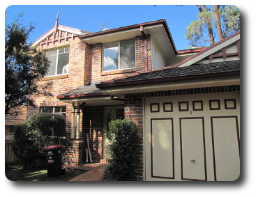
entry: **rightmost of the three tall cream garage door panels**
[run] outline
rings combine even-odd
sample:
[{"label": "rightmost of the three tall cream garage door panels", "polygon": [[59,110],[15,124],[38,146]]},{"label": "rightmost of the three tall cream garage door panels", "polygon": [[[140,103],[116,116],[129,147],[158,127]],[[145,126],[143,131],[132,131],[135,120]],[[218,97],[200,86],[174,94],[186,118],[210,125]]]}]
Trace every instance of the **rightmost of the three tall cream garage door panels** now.
[{"label": "rightmost of the three tall cream garage door panels", "polygon": [[232,181],[240,175],[237,116],[211,117],[215,180]]}]

